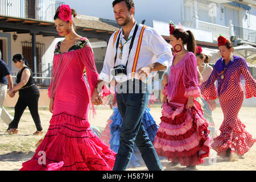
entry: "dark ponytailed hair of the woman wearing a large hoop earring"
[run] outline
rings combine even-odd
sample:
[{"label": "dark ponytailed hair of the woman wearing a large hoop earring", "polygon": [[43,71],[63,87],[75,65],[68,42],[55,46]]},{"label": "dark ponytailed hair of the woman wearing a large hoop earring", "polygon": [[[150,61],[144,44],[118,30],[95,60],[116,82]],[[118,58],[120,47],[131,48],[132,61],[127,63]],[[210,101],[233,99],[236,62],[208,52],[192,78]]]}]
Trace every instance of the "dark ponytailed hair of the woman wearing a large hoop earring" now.
[{"label": "dark ponytailed hair of the woman wearing a large hoop earring", "polygon": [[181,38],[183,44],[187,44],[187,51],[196,54],[196,40],[190,30],[181,32],[176,28],[172,35],[174,35],[176,39]]}]

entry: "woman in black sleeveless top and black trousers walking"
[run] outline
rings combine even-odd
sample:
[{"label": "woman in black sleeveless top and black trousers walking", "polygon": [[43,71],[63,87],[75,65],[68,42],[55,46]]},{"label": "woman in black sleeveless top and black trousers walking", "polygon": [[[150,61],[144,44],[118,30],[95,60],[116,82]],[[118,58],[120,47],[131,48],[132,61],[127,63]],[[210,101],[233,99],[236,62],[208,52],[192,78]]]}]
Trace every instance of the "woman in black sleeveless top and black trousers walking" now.
[{"label": "woman in black sleeveless top and black trousers walking", "polygon": [[14,55],[13,62],[15,64],[15,67],[19,68],[19,73],[16,78],[17,85],[14,86],[13,89],[8,90],[7,93],[10,96],[14,96],[14,94],[19,91],[19,99],[15,105],[14,119],[9,124],[7,133],[18,133],[18,124],[20,117],[22,117],[24,110],[28,106],[28,109],[30,110],[30,113],[36,125],[37,131],[34,133],[34,135],[42,135],[43,129],[38,114],[39,89],[34,82],[31,69],[28,68],[27,61],[24,60],[23,55]]}]

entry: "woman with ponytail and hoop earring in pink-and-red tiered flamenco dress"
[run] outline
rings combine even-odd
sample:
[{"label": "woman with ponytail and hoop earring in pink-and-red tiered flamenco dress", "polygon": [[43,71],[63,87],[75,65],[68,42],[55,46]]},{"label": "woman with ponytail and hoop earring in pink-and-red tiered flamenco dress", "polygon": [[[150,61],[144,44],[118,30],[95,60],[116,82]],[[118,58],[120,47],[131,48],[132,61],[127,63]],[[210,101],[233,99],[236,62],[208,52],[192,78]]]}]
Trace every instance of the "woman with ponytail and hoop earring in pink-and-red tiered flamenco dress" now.
[{"label": "woman with ponytail and hoop earring in pink-and-red tiered flamenco dress", "polygon": [[[208,122],[196,97],[200,97],[197,80],[196,43],[191,31],[170,23],[170,44],[176,54],[171,65],[168,84],[163,89],[163,110],[154,147],[159,156],[195,170],[209,156]],[[187,44],[187,51],[184,48]],[[190,52],[188,52],[190,51]],[[171,167],[170,166],[170,167]]]}]

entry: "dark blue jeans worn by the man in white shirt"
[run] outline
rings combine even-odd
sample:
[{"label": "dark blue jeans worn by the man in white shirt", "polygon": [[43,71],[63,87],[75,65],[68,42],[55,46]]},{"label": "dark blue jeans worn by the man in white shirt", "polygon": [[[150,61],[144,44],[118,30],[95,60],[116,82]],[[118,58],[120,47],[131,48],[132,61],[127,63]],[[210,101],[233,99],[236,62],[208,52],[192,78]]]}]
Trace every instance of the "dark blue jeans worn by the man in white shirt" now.
[{"label": "dark blue jeans worn by the man in white shirt", "polygon": [[[139,83],[139,87],[135,86],[134,82],[131,83],[134,86],[133,93],[128,92],[131,85],[127,86],[126,93],[117,92],[117,105],[123,123],[120,129],[120,144],[118,154],[115,158],[113,171],[126,170],[131,155],[133,154],[134,142],[139,148],[139,151],[141,151],[142,158],[148,170],[160,171],[163,168],[142,122],[142,117],[144,110],[147,107],[150,93],[148,92],[146,84],[141,81],[139,81]],[[141,93],[143,88],[146,88],[145,93]],[[122,89],[126,90],[126,88]],[[134,93],[135,89],[139,89],[140,93]]]}]

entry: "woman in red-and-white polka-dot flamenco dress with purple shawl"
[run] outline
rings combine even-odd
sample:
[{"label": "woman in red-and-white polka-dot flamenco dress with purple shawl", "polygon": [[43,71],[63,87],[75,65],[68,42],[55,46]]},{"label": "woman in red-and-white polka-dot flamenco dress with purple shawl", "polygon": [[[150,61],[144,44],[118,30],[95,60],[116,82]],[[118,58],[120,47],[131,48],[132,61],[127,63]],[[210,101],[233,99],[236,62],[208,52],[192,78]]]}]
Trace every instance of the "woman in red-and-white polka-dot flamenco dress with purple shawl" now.
[{"label": "woman in red-and-white polka-dot flamenco dress with purple shawl", "polygon": [[[245,59],[233,55],[233,44],[223,36],[218,38],[221,59],[214,65],[212,74],[201,84],[201,94],[205,100],[220,100],[224,121],[220,127],[221,134],[213,139],[212,148],[220,156],[227,156],[229,161],[236,161],[234,153],[243,158],[256,142],[245,130],[245,125],[238,118],[242,107],[243,88],[241,76],[245,78],[245,97],[256,96],[256,81],[251,76]],[[217,89],[214,82],[217,80]]]}]

